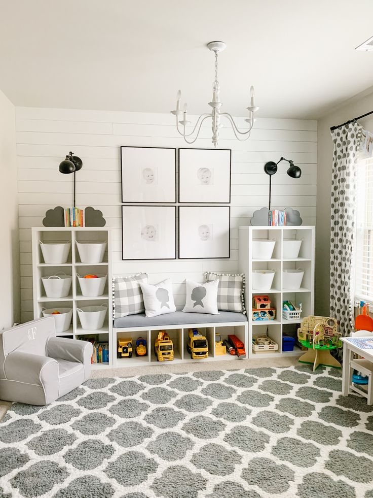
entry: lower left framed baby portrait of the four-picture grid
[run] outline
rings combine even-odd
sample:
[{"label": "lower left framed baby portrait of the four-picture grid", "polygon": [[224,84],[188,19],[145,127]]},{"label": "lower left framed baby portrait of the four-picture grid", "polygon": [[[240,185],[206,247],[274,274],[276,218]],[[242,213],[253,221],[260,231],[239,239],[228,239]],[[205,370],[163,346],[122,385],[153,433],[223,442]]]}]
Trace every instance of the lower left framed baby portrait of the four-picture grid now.
[{"label": "lower left framed baby portrait of the four-picture grid", "polygon": [[176,207],[122,206],[122,259],[176,259]]}]

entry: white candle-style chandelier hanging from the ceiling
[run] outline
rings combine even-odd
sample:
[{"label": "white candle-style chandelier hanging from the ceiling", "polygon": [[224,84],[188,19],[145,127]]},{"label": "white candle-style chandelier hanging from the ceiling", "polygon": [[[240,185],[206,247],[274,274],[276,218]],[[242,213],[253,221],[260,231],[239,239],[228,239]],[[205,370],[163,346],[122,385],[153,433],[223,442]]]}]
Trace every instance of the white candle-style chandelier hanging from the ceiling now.
[{"label": "white candle-style chandelier hanging from the ceiling", "polygon": [[[250,105],[246,109],[249,111],[249,117],[245,119],[245,121],[249,124],[249,129],[246,131],[240,131],[231,114],[228,112],[220,112],[220,107],[222,106],[222,103],[219,100],[219,82],[217,79],[217,54],[224,50],[226,48],[226,44],[224,42],[210,42],[207,44],[207,48],[211,50],[211,52],[214,52],[215,54],[215,80],[213,83],[212,87],[212,101],[208,103],[210,107],[212,107],[212,111],[210,113],[205,113],[201,114],[200,117],[197,119],[197,123],[193,130],[190,133],[185,132],[185,126],[189,126],[191,124],[191,121],[187,120],[187,112],[188,112],[188,106],[187,104],[184,104],[183,110],[181,111],[181,91],[179,90],[177,92],[177,100],[176,100],[176,109],[174,111],[171,111],[172,114],[176,116],[176,128],[179,134],[184,138],[185,142],[187,144],[193,144],[199,136],[200,130],[202,123],[205,119],[211,118],[212,119],[212,143],[214,144],[214,147],[216,147],[219,143],[219,128],[223,126],[220,123],[220,116],[226,116],[228,121],[231,123],[231,126],[233,128],[234,134],[238,140],[241,142],[244,140],[247,140],[250,137],[250,133],[254,124],[254,113],[259,109],[258,107],[255,106],[254,103],[254,87],[250,87]],[[179,121],[179,116],[182,115],[182,120]],[[181,125],[182,131],[180,131]],[[197,133],[195,135],[195,138],[192,138],[192,136],[195,134],[195,131],[197,130]],[[191,137],[190,140],[188,138]]]}]

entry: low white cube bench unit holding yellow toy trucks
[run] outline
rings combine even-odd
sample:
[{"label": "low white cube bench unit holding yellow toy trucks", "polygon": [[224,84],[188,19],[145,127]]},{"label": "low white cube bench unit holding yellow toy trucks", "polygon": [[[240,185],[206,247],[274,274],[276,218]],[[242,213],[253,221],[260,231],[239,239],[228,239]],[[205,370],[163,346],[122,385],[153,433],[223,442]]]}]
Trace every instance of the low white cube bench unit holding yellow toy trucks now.
[{"label": "low white cube bench unit holding yellow toy trucks", "polygon": [[[144,329],[139,327],[131,327],[126,331],[121,329],[114,329],[114,339],[113,342],[117,343],[118,339],[132,339],[133,343],[133,355],[132,358],[114,358],[115,368],[125,368],[125,367],[140,367],[150,364],[166,364],[166,363],[199,363],[201,361],[216,361],[216,360],[238,360],[235,355],[215,354],[215,334],[220,334],[221,339],[228,339],[230,334],[236,335],[240,341],[245,345],[246,358],[248,357],[248,322],[247,321],[237,321],[229,323],[191,323],[183,325],[164,325],[159,327],[149,327],[150,329]],[[200,333],[204,335],[208,342],[209,355],[208,358],[203,359],[192,359],[191,355],[187,352],[187,340],[190,328],[198,328]],[[174,359],[172,361],[158,362],[157,357],[154,353],[154,343],[156,341],[157,335],[161,330],[167,331],[173,342],[174,347]],[[136,356],[135,355],[135,343],[136,340],[142,337],[146,339],[147,344],[147,355],[146,356]],[[239,367],[238,367],[239,368]]]}]

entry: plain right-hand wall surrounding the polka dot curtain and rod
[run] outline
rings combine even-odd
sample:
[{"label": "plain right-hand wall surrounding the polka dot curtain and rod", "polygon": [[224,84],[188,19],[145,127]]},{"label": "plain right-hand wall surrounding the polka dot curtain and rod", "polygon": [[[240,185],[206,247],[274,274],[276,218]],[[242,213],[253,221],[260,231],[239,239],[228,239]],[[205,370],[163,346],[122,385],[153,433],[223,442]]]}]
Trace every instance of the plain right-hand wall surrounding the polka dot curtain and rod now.
[{"label": "plain right-hand wall surrounding the polka dot curtain and rod", "polygon": [[[318,121],[317,230],[315,313],[329,315],[330,297],[330,197],[333,143],[330,127],[373,110],[373,93],[363,92]],[[373,131],[373,115],[359,122]]]}]

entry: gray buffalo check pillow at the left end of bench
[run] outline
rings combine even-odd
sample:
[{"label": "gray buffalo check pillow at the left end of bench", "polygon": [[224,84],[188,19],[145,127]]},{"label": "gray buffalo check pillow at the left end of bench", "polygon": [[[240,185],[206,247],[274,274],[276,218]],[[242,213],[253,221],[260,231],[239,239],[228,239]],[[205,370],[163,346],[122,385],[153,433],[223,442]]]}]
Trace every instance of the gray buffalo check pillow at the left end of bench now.
[{"label": "gray buffalo check pillow at the left end of bench", "polygon": [[147,274],[113,277],[113,318],[136,315],[145,311],[140,282],[147,283]]}]

